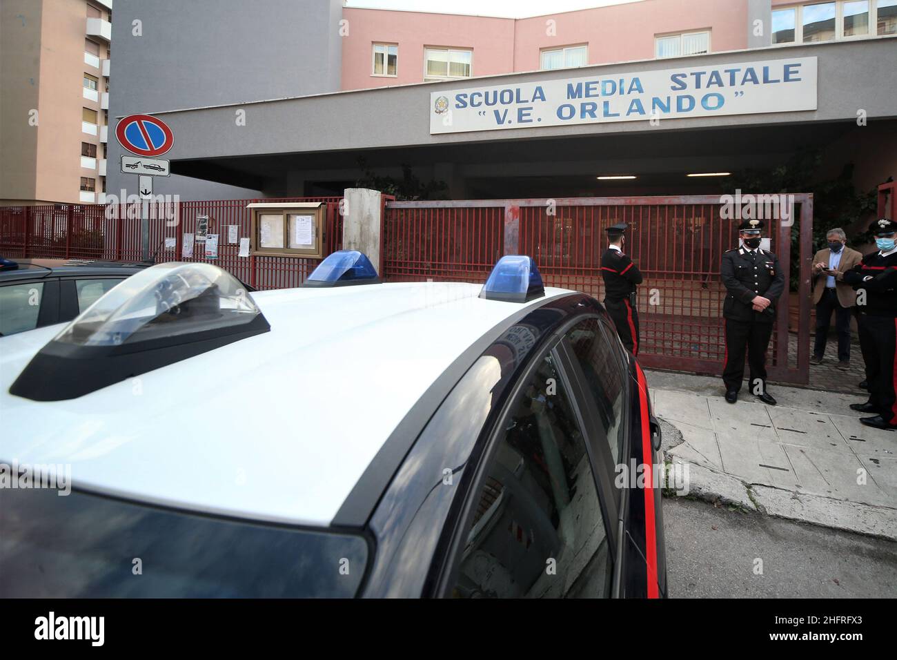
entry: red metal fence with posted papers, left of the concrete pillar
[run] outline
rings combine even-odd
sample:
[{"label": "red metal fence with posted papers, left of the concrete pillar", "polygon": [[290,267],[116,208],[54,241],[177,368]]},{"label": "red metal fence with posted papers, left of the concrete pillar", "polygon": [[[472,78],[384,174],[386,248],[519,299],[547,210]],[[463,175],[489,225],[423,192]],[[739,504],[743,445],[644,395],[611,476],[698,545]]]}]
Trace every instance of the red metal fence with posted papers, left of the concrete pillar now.
[{"label": "red metal fence with posted papers, left of the concrete pillar", "polygon": [[[225,199],[149,205],[150,253],[157,261],[211,261],[259,289],[299,286],[319,260],[295,257],[239,257],[239,238],[251,232],[247,205],[254,201],[324,202],[325,254],[343,244],[342,198]],[[0,207],[0,255],[8,258],[59,258],[137,261],[141,258],[140,203],[56,204],[32,207]],[[196,233],[196,217],[208,216],[208,233],[217,233],[218,257],[205,257],[196,242],[192,257],[182,254],[185,233]],[[237,242],[228,241],[228,227],[237,226]],[[166,249],[165,238],[175,239]]]}]

